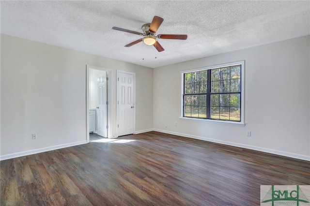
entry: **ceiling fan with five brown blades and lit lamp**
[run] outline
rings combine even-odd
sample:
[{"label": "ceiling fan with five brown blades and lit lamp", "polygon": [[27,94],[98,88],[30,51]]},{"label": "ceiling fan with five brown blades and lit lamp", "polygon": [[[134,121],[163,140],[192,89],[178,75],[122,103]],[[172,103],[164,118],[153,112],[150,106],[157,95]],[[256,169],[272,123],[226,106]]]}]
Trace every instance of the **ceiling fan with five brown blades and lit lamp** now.
[{"label": "ceiling fan with five brown blades and lit lamp", "polygon": [[132,43],[129,43],[125,45],[125,47],[129,47],[135,44],[138,44],[139,42],[142,42],[147,45],[153,45],[158,52],[162,52],[165,49],[157,42],[158,39],[180,39],[180,40],[186,40],[187,35],[186,34],[155,34],[161,23],[164,21],[163,18],[159,16],[154,16],[153,21],[151,24],[144,24],[142,25],[141,29],[143,33],[132,31],[128,29],[122,29],[118,27],[112,27],[114,30],[124,31],[128,33],[138,34],[140,36],[143,36],[142,39],[138,39]]}]

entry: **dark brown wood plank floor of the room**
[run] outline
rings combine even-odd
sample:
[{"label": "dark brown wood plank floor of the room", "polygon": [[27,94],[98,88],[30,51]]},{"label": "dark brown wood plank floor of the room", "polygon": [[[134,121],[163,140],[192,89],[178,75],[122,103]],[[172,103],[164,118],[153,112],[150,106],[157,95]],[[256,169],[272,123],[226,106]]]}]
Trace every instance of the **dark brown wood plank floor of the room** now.
[{"label": "dark brown wood plank floor of the room", "polygon": [[146,132],[1,161],[1,206],[259,206],[310,162]]}]

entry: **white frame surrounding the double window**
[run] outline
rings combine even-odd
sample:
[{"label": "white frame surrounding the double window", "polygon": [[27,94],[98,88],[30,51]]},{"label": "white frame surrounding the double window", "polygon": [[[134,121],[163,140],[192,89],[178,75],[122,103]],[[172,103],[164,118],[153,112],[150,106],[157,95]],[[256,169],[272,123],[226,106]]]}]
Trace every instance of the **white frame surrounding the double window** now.
[{"label": "white frame surrounding the double window", "polygon": [[[241,121],[235,122],[235,121],[229,121],[229,120],[215,120],[215,119],[201,119],[201,118],[186,118],[183,117],[183,95],[184,95],[184,74],[189,72],[197,72],[202,70],[211,70],[211,69],[217,69],[221,67],[228,67],[228,66],[234,66],[234,65],[241,65]],[[196,69],[190,69],[190,70],[184,70],[180,73],[181,76],[181,113],[180,118],[181,120],[187,120],[187,121],[198,121],[198,122],[212,122],[212,123],[219,123],[219,124],[229,124],[229,125],[237,125],[237,126],[245,126],[244,116],[245,116],[245,60],[242,61],[234,61],[224,64],[217,64],[212,66],[206,66]]]}]

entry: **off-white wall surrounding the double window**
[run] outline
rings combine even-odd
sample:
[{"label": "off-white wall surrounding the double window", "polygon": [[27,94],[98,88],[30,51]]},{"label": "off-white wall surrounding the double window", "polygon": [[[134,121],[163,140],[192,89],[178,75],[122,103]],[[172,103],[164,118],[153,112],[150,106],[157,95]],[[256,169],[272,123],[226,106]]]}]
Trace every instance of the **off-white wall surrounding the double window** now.
[{"label": "off-white wall surrounding the double window", "polygon": [[[239,60],[245,127],[179,119],[181,71]],[[155,130],[310,160],[310,36],[155,68],[154,79]]]}]

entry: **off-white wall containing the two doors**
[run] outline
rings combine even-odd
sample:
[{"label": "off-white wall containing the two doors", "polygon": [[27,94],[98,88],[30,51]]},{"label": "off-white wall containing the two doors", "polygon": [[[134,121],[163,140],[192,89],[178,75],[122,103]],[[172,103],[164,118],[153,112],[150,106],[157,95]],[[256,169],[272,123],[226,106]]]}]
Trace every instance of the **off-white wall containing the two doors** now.
[{"label": "off-white wall containing the two doors", "polygon": [[[153,69],[5,34],[0,38],[1,159],[86,142],[86,65],[136,73],[136,131],[153,127]],[[31,133],[37,133],[36,140]]]}]

